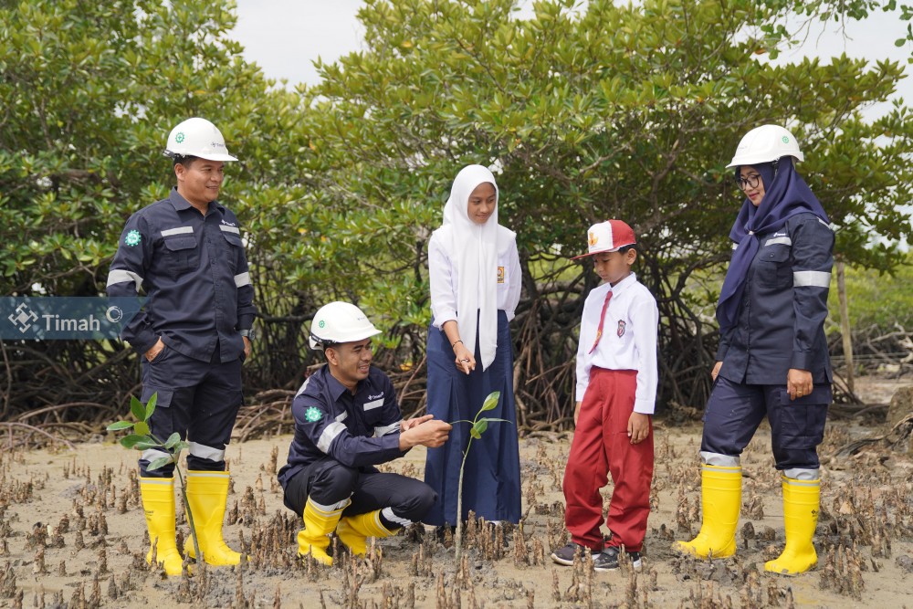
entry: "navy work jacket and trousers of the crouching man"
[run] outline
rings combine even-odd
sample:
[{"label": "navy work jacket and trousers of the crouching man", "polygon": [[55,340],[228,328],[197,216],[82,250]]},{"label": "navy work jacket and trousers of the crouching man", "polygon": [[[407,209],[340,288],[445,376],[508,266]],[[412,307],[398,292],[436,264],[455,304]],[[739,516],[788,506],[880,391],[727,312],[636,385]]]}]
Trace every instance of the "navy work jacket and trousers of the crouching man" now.
[{"label": "navy work jacket and trousers of the crouching man", "polygon": [[302,515],[311,501],[330,509],[351,499],[342,516],[382,509],[384,520],[406,526],[437,499],[421,480],[381,473],[376,465],[402,457],[403,415],[393,384],[373,366],[352,394],[324,364],[301,385],[291,404],[295,437],[279,469],[285,505]]}]

